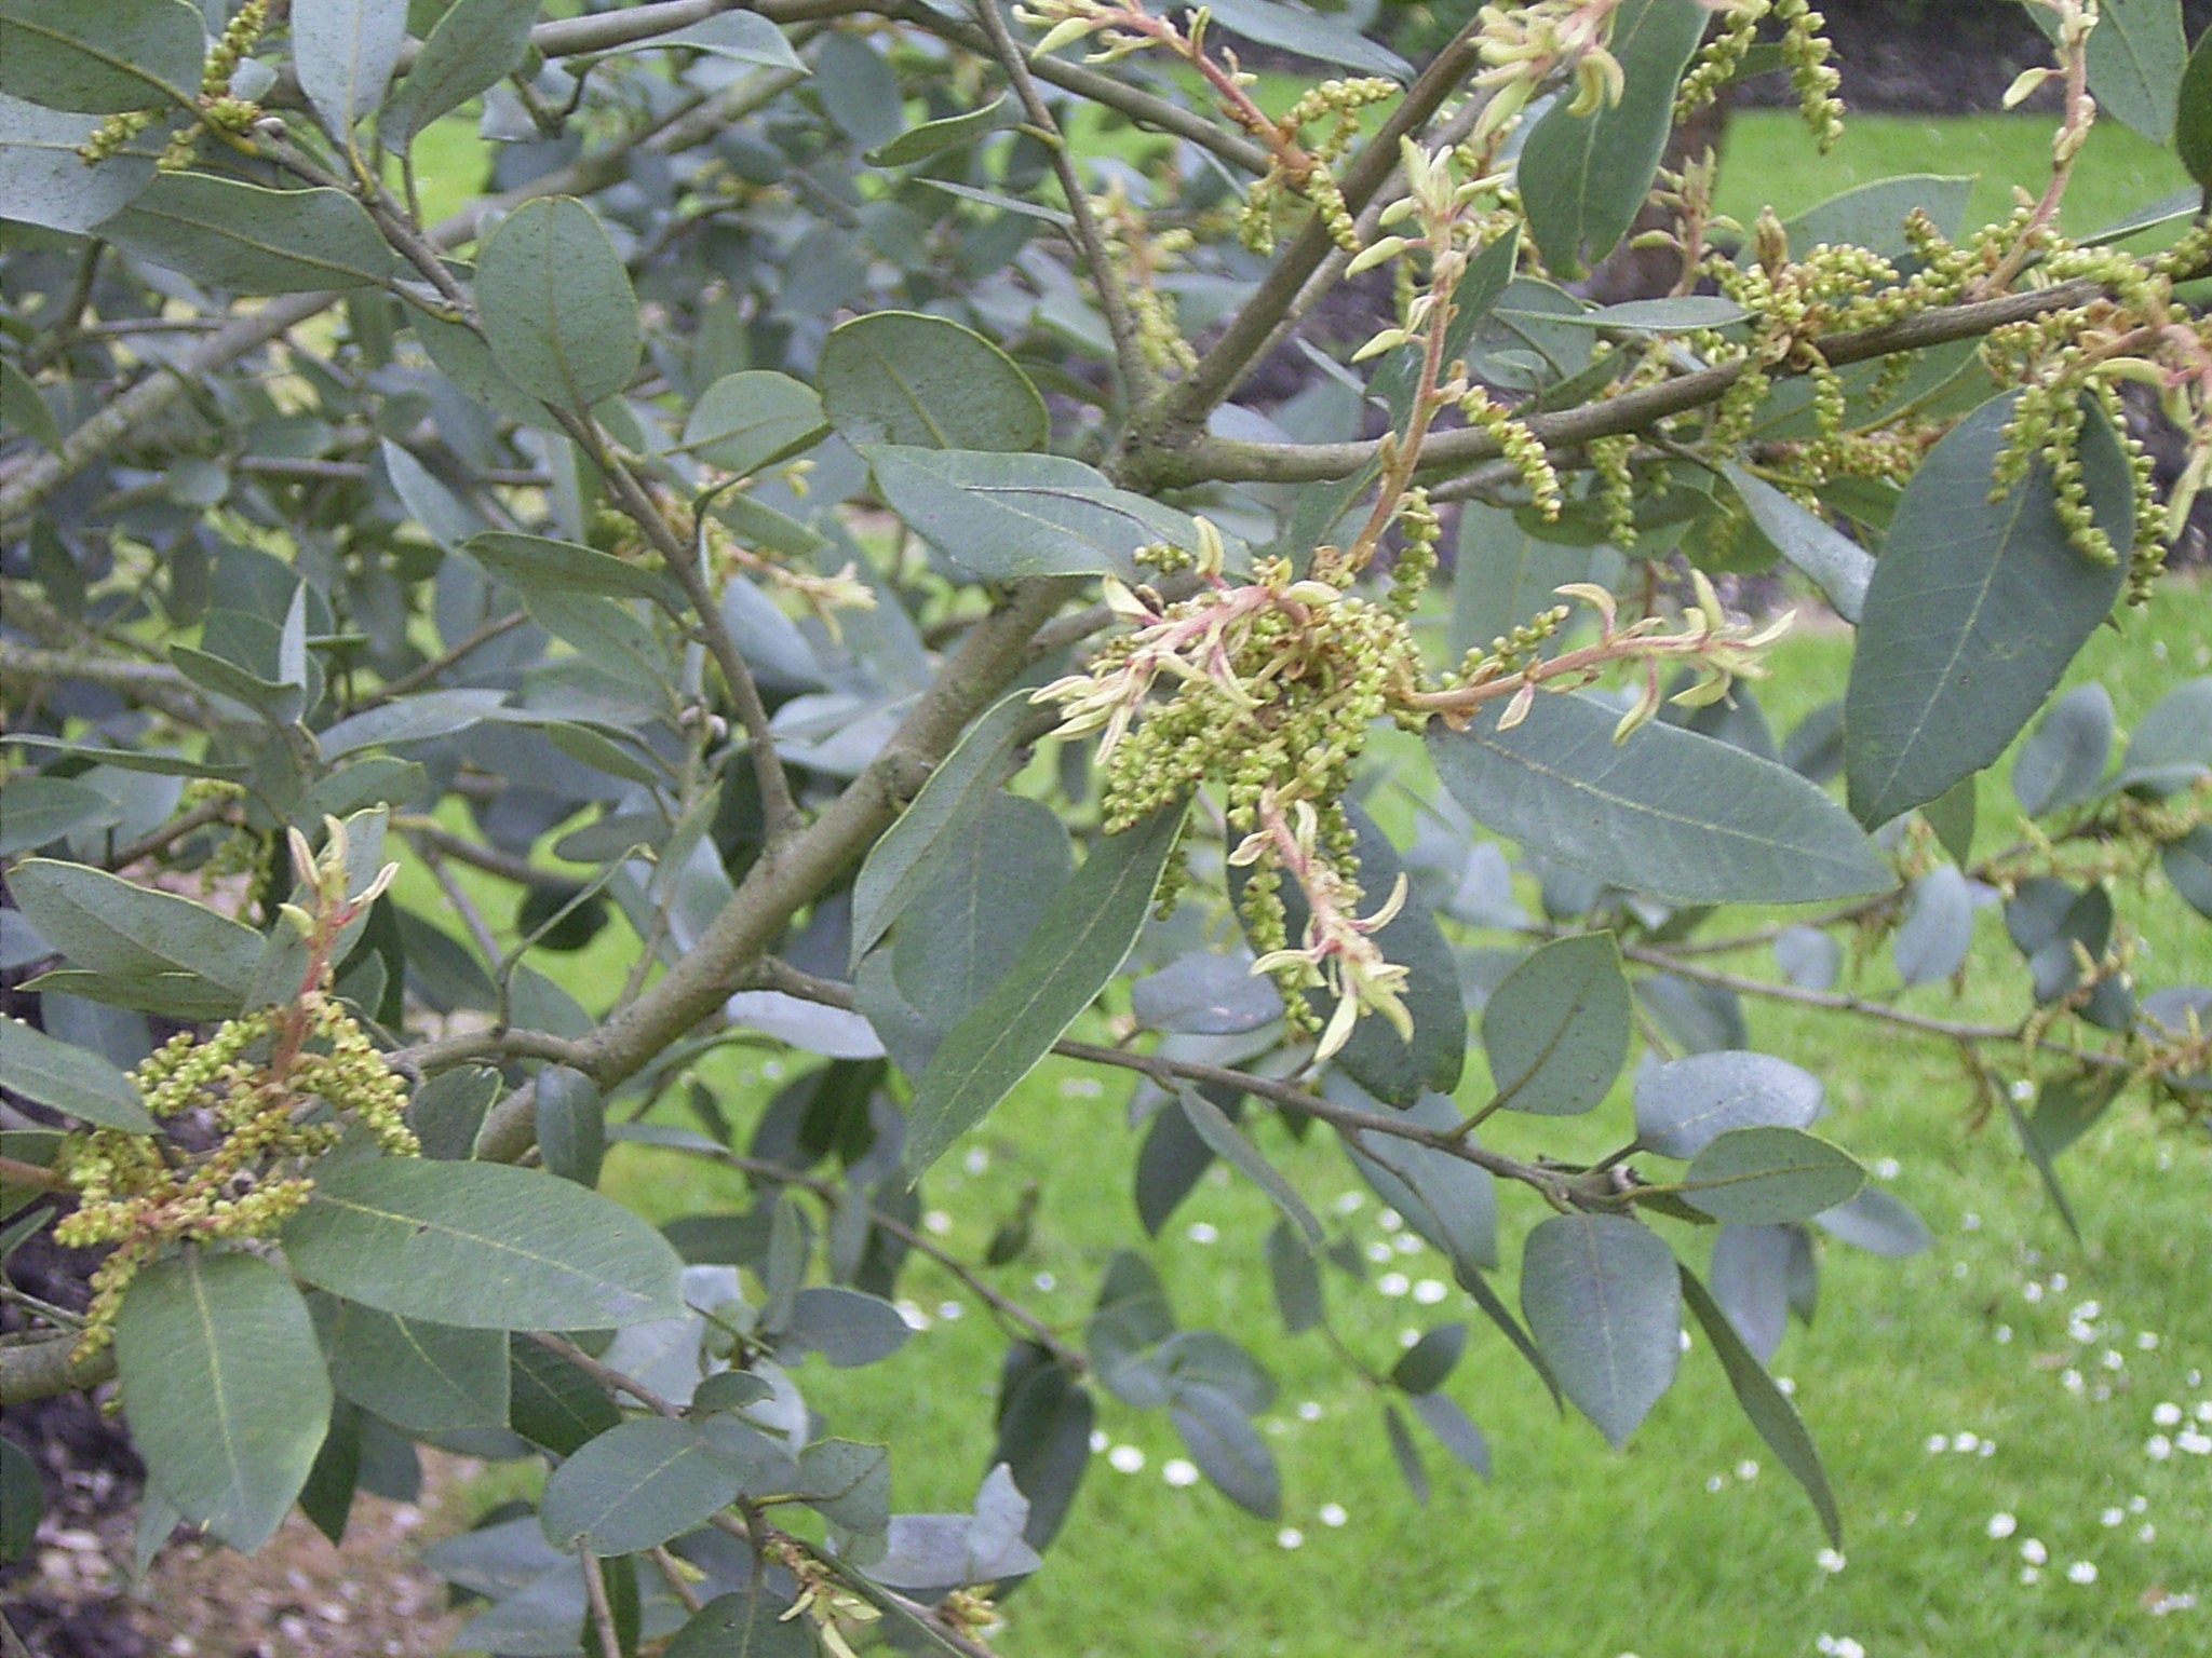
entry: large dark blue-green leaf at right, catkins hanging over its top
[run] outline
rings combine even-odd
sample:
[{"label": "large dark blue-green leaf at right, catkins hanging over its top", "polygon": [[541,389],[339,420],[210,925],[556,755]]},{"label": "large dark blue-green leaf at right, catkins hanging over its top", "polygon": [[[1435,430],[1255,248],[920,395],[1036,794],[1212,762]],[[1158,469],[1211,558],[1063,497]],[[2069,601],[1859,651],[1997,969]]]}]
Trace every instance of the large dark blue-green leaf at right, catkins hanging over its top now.
[{"label": "large dark blue-green leaf at right, catkins hanging over its top", "polygon": [[2101,416],[2081,433],[2090,511],[2119,548],[2066,539],[2037,466],[1989,500],[2015,398],[1995,398],[1929,451],[1867,584],[1845,694],[1851,811],[1880,825],[2004,754],[2126,579],[2135,484]]}]

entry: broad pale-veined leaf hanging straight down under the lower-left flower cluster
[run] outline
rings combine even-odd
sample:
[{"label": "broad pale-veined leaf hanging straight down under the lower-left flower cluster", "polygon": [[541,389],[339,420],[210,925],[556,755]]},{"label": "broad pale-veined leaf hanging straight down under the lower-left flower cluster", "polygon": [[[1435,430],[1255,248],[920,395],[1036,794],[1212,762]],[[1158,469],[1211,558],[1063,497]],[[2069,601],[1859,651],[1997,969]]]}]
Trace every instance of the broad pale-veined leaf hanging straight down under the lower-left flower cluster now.
[{"label": "broad pale-veined leaf hanging straight down under the lower-left flower cluster", "polygon": [[330,1377],[307,1302],[254,1256],[157,1260],[115,1318],[131,1441],[184,1519],[252,1554],[307,1483]]}]

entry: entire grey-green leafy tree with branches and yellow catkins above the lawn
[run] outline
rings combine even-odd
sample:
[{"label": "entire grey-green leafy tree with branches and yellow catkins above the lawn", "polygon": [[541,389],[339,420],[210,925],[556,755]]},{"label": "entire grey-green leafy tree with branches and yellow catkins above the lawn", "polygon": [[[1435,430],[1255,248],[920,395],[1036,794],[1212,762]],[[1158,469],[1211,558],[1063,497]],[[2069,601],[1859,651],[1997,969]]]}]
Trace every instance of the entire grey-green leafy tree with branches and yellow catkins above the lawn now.
[{"label": "entire grey-green leafy tree with branches and yellow catkins above the lawn", "polygon": [[[2039,197],[1739,225],[1668,135],[1781,71],[1832,137],[1805,0],[0,0],[0,1251],[102,1251],[9,1291],[0,1399],[113,1377],[148,1545],[546,1459],[440,1556],[473,1647],[989,1651],[1095,1391],[1281,1503],[1270,1377],[1141,1242],[1066,1331],[1026,1214],[920,1225],[1057,1052],[1135,1083],[1146,1231],[1217,1161],[1274,1200],[1267,1315],[1416,1490],[1413,1424],[1489,1466],[1469,1324],[1336,1340],[1285,1136],[1615,1446],[1688,1320],[1836,1536],[1763,1360],[1827,1240],[1924,1229],[1741,999],[1951,1046],[2059,1205],[2124,1090],[2212,1094],[2212,988],[2124,920],[2212,915],[2212,679],[2124,743],[2053,701],[2212,482],[2212,46],[2033,9]],[[2201,188],[2068,234],[2099,115]],[[1628,241],[1661,292],[1577,298]],[[1856,628],[1787,734],[1761,570]],[[1984,902],[2015,1019],[1836,988],[1958,975]],[[818,1061],[737,1099],[730,1046]],[[754,1203],[653,1229],[613,1143]],[[891,1514],[796,1368],[891,1355],[916,1253],[1009,1335],[964,1514]]]}]

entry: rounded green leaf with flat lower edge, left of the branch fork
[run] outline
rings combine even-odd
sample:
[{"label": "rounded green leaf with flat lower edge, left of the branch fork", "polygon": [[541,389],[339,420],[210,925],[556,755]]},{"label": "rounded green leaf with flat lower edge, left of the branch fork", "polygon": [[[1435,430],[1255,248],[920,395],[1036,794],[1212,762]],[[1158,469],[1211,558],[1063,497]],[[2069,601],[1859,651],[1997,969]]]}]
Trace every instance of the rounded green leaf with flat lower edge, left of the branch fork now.
[{"label": "rounded green leaf with flat lower edge, left of the branch fork", "polygon": [[856,444],[1029,453],[1053,436],[1044,398],[1013,358],[942,316],[841,323],[814,378],[830,420]]}]

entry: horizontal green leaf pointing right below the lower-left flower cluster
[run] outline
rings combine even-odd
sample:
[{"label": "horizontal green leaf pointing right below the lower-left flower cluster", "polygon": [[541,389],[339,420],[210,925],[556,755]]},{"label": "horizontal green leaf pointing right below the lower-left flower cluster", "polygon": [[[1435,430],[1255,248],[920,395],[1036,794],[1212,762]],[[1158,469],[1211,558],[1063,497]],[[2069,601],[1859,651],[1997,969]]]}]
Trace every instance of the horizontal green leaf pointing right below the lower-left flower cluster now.
[{"label": "horizontal green leaf pointing right below the lower-left flower cluster", "polygon": [[681,1260],[595,1192],[504,1163],[372,1158],[325,1169],[283,1229],[310,1284],[462,1329],[679,1318]]}]

